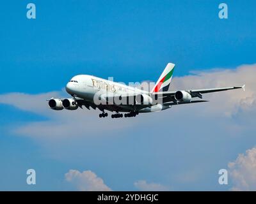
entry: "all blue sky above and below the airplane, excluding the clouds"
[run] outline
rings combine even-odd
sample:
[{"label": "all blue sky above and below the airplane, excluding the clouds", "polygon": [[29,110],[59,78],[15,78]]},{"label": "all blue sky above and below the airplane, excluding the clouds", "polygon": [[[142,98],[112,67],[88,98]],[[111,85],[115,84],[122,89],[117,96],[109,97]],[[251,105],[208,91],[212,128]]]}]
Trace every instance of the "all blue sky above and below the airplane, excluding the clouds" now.
[{"label": "all blue sky above and below the airplane, excluding the clouds", "polygon": [[[28,3],[4,1],[0,6],[2,98],[12,92],[61,91],[71,77],[81,73],[114,77],[116,81],[128,83],[156,81],[167,62],[176,64],[174,74],[180,78],[195,70],[236,70],[242,64],[255,63],[255,1],[225,1],[228,4],[226,20],[218,18],[218,4],[222,2],[213,0],[33,1],[36,4],[35,20],[26,18]],[[185,110],[190,112],[186,107],[180,115],[173,115],[184,119]],[[168,113],[172,115],[172,110],[158,116],[154,124],[159,128],[150,130],[143,125],[141,128],[136,125],[140,121],[134,120],[127,124],[129,128],[116,130],[109,120],[111,130],[107,136],[97,131],[94,137],[90,132],[89,137],[57,140],[52,135],[54,141],[49,139],[50,133],[45,139],[15,131],[28,124],[33,126],[33,122],[51,121],[54,124],[56,119],[49,115],[22,110],[3,101],[0,112],[0,175],[4,175],[0,178],[0,189],[4,190],[70,189],[64,179],[70,169],[92,170],[114,190],[134,190],[136,180],[161,183],[178,190],[227,190],[231,186],[218,185],[218,175],[214,173],[256,144],[252,127],[240,132],[248,136],[241,143],[237,139],[241,138],[239,133],[231,140],[227,127],[216,122],[233,126],[237,117],[232,121],[211,114],[204,115],[207,119],[196,118],[199,124],[209,122],[202,129],[211,129],[209,124],[216,125],[218,131],[212,136],[209,133],[209,138],[216,144],[215,150],[220,141],[213,134],[226,136],[220,149],[227,156],[220,159],[221,154],[211,155],[214,148],[209,148],[210,139],[198,135],[198,127],[188,125],[194,124],[195,115],[189,115],[180,123],[172,123],[173,119],[169,120],[168,116]],[[84,113],[84,121],[93,117],[100,128],[100,122],[104,121],[97,118],[97,113],[90,114]],[[244,117],[244,120],[250,118]],[[155,119],[151,116],[150,120]],[[189,126],[191,132],[182,130],[178,135],[172,135],[175,128],[172,124]],[[85,135],[86,128],[85,123]],[[226,149],[230,141],[232,145]],[[187,152],[182,151],[184,149]],[[68,153],[65,154],[65,150]],[[211,164],[205,155],[211,158]],[[169,159],[172,162],[169,163]],[[198,166],[202,163],[208,167]],[[37,172],[36,186],[26,184],[28,168],[35,168]],[[197,176],[199,179],[190,183],[181,182],[177,178],[184,171],[195,172],[201,177]],[[209,182],[205,183],[205,180]]]}]

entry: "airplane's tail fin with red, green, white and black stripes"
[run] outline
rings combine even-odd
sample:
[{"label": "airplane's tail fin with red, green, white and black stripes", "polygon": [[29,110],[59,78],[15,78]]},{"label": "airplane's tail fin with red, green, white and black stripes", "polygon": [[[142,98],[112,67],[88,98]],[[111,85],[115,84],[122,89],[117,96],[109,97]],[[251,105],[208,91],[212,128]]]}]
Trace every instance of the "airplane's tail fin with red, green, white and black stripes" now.
[{"label": "airplane's tail fin with red, green, white and black stripes", "polygon": [[174,66],[175,64],[172,63],[167,64],[166,68],[157,80],[156,85],[151,92],[158,92],[160,89],[163,89],[163,91],[168,91],[170,83],[172,81]]}]

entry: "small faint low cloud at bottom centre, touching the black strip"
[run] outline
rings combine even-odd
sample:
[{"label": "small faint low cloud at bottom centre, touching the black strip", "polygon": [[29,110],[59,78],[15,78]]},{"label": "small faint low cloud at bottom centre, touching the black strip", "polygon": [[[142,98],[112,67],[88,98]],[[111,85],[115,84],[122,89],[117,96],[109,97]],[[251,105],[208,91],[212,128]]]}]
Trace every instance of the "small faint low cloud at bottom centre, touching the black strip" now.
[{"label": "small faint low cloud at bottom centre, touching the black strip", "polygon": [[170,191],[167,186],[156,183],[148,183],[146,180],[134,182],[134,186],[140,191]]}]

